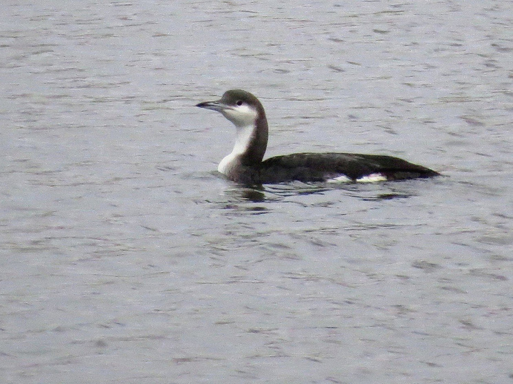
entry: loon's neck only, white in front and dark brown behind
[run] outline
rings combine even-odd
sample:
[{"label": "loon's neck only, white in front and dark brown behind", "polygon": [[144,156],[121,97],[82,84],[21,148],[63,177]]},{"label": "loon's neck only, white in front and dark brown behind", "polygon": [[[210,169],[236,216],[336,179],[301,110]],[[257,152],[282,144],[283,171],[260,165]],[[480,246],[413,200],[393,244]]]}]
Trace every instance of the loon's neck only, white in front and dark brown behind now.
[{"label": "loon's neck only, white in front and dark brown behind", "polygon": [[236,126],[236,128],[237,137],[232,153],[226,156],[217,167],[219,172],[226,175],[240,166],[258,166],[268,146],[269,128],[263,108],[252,124]]}]

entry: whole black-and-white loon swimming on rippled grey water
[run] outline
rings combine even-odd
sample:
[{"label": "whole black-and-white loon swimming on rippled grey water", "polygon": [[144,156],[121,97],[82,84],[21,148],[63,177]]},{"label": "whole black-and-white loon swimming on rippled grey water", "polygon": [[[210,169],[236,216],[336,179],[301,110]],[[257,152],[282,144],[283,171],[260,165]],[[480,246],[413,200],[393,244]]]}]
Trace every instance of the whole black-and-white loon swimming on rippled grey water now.
[{"label": "whole black-and-white loon swimming on rippled grey water", "polygon": [[268,145],[268,120],[254,95],[232,89],[220,100],[196,106],[221,112],[237,128],[232,153],[219,163],[217,170],[238,183],[385,181],[439,175],[429,168],[386,155],[294,153],[262,161]]}]

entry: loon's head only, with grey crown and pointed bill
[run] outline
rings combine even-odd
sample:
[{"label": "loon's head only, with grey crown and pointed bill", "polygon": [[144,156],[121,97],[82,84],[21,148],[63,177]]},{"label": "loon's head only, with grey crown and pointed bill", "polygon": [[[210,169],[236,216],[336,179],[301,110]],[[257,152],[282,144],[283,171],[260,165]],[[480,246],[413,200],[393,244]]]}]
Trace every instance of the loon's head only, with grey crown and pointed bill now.
[{"label": "loon's head only, with grey crown and pointed bill", "polygon": [[221,112],[237,128],[256,126],[265,120],[265,111],[259,99],[242,89],[231,89],[219,100],[200,102],[196,106]]}]

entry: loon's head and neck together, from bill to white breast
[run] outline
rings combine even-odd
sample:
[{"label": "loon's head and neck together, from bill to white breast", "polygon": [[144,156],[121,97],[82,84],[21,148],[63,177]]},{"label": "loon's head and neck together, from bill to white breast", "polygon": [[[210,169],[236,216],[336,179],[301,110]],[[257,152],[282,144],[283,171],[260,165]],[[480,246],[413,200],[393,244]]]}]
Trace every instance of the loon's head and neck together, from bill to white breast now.
[{"label": "loon's head and neck together, from bill to white breast", "polygon": [[219,172],[228,174],[238,163],[243,166],[261,163],[268,145],[268,121],[259,99],[242,89],[232,89],[219,100],[196,106],[222,113],[237,128],[235,146],[219,164]]}]

